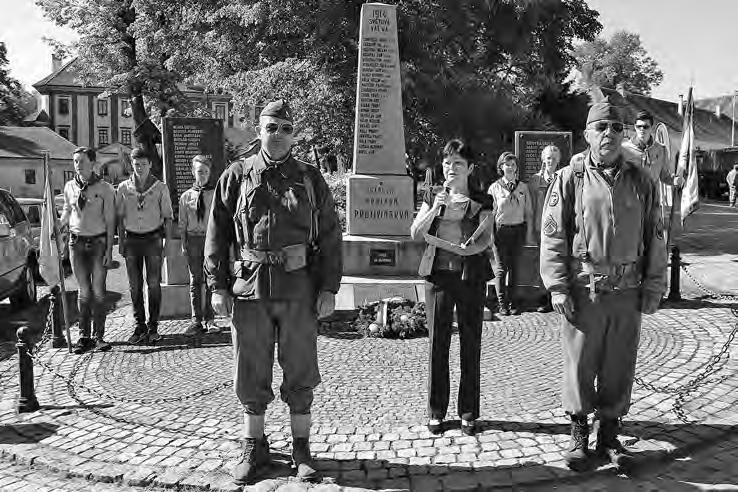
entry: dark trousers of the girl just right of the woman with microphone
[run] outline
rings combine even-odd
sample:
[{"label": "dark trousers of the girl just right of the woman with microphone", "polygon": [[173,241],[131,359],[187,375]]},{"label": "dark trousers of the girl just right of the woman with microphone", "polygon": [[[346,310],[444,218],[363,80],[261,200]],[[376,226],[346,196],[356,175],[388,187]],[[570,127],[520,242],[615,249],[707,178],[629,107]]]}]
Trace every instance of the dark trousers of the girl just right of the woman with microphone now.
[{"label": "dark trousers of the girl just right of the woman with microphone", "polygon": [[495,227],[495,290],[500,305],[516,300],[518,263],[525,242],[525,227],[525,222]]}]

